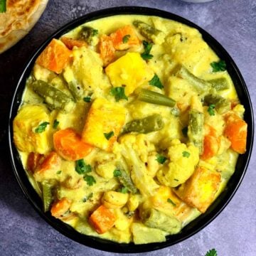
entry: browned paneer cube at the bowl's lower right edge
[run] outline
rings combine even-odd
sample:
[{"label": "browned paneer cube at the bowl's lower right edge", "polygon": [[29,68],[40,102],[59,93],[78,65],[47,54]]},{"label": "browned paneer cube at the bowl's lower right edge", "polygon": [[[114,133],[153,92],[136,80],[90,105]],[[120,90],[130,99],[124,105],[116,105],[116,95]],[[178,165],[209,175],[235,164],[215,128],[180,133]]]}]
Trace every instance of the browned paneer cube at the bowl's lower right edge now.
[{"label": "browned paneer cube at the bowl's lower right edge", "polygon": [[191,178],[174,189],[182,201],[201,211],[206,212],[214,200],[215,193],[220,186],[220,174],[198,166]]}]

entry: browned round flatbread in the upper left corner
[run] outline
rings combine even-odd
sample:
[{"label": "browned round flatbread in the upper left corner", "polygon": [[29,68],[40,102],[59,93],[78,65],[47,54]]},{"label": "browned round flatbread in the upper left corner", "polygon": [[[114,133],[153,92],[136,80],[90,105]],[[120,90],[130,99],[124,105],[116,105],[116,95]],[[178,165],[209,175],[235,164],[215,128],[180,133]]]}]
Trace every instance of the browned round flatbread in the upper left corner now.
[{"label": "browned round flatbread in the upper left corner", "polygon": [[7,0],[0,14],[0,53],[14,46],[43,14],[48,0]]}]

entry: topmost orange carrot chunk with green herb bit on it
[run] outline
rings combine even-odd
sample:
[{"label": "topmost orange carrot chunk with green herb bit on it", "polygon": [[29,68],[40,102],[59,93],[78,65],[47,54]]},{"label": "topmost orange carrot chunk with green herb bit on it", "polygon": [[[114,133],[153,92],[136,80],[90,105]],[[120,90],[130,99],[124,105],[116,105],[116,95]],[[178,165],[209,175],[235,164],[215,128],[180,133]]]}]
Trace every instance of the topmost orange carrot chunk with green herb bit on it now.
[{"label": "topmost orange carrot chunk with green herb bit on it", "polygon": [[117,31],[110,34],[110,38],[116,50],[126,50],[131,46],[140,44],[135,29],[130,25],[117,29]]}]

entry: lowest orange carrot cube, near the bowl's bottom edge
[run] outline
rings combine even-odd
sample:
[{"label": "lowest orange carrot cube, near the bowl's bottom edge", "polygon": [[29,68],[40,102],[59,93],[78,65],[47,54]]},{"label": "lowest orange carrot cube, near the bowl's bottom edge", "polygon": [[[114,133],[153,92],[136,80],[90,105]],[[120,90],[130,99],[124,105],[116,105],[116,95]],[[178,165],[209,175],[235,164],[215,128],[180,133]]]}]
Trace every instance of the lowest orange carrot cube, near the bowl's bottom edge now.
[{"label": "lowest orange carrot cube, near the bowl's bottom edge", "polygon": [[103,234],[112,228],[116,219],[114,213],[102,205],[90,215],[89,222],[97,233]]}]

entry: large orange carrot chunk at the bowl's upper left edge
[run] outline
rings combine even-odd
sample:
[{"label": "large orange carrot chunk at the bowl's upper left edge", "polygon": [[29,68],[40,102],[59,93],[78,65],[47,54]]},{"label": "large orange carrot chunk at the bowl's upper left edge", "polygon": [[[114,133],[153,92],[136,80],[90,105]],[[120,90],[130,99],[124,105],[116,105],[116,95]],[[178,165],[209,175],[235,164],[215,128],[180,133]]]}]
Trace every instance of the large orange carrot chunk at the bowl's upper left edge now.
[{"label": "large orange carrot chunk at the bowl's upper left edge", "polygon": [[60,40],[53,38],[43,52],[38,56],[36,63],[60,74],[70,61],[71,50]]}]

